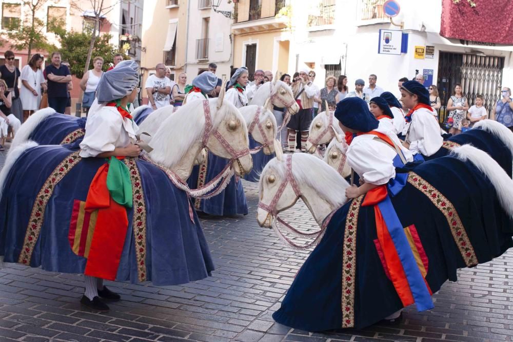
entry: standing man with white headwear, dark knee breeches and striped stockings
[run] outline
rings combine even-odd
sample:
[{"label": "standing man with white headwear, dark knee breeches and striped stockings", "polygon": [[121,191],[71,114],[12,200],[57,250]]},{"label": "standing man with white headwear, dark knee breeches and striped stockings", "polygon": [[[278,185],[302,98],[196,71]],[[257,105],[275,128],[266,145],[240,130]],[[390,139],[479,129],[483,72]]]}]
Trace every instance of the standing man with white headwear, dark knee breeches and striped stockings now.
[{"label": "standing man with white headwear, dark knee breeches and striped stockings", "polygon": [[306,140],[308,140],[308,128],[312,121],[313,111],[313,98],[315,97],[316,89],[308,79],[309,70],[304,67],[299,70],[299,77],[294,78],[292,84],[292,93],[295,100],[299,104],[299,112],[291,115],[290,121],[287,125],[288,129],[288,146],[289,151],[294,152],[296,145],[296,134],[301,132],[301,150],[296,152],[306,151]]}]

